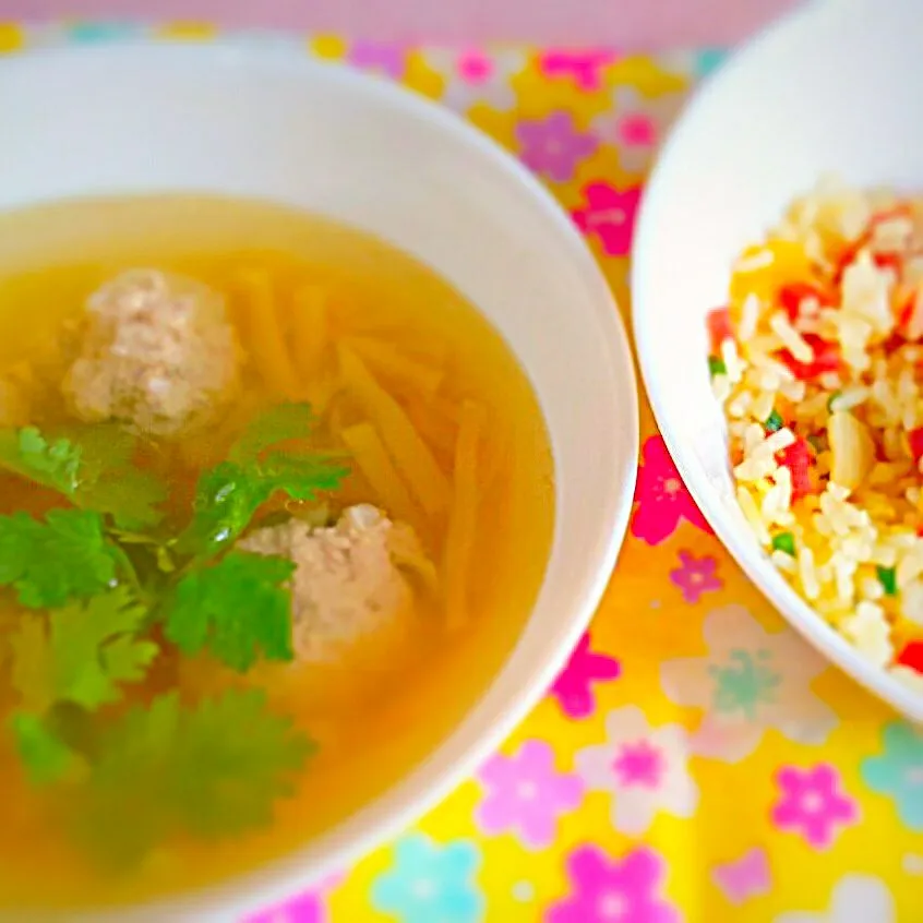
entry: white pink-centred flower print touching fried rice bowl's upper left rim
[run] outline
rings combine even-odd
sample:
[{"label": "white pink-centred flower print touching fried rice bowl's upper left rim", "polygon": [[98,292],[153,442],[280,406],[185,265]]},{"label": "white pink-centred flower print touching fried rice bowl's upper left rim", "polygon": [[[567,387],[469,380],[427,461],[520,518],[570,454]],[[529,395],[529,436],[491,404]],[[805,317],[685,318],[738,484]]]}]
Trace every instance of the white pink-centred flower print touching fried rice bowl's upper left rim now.
[{"label": "white pink-centred flower print touching fried rice bowl's upper left rim", "polygon": [[632,86],[612,91],[612,107],[591,123],[592,130],[619,152],[619,164],[630,173],[644,173],[686,99],[684,93],[645,96]]}]

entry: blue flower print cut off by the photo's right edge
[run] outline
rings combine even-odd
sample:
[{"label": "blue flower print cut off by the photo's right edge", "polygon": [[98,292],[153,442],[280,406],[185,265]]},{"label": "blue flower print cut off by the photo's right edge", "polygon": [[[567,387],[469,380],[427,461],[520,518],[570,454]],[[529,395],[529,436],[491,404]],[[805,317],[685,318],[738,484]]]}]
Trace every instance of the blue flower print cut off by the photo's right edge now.
[{"label": "blue flower print cut off by the photo's right edge", "polygon": [[862,763],[862,778],[873,791],[895,800],[898,816],[923,831],[923,730],[902,721],[884,731],[885,752]]}]

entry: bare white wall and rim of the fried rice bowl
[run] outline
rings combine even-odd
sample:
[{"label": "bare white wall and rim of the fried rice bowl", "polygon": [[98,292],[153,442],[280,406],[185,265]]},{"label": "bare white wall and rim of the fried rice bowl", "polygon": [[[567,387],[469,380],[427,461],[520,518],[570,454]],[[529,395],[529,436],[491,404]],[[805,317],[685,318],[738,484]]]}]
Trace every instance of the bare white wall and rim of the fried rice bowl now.
[{"label": "bare white wall and rim of the fried rice bowl", "polygon": [[784,583],[733,494],[705,317],[740,251],[791,200],[836,173],[923,187],[915,0],[817,0],[735,55],[693,100],[661,155],[635,238],[634,325],[660,428],[721,540],[771,601],[847,671],[910,716],[923,700],[867,664]]}]

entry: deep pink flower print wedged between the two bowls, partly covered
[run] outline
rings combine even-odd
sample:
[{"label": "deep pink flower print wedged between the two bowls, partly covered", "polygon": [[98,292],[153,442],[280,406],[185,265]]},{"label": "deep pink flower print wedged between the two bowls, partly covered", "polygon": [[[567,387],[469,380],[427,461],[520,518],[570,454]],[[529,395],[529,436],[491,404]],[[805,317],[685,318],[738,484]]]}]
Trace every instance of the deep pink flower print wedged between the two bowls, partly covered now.
[{"label": "deep pink flower print wedged between the two bowls, partly covered", "polygon": [[648,544],[666,541],[682,519],[711,534],[680,478],[662,436],[650,436],[642,448],[635,500],[638,507],[632,518],[632,535]]}]

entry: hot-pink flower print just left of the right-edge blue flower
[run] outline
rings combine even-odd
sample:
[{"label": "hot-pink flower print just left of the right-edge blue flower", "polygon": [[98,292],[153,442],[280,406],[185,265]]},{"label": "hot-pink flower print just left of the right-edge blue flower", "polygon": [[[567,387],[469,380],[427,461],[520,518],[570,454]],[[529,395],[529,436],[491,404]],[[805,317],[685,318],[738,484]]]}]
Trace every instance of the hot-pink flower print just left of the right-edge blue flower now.
[{"label": "hot-pink flower print just left of the right-edge blue flower", "polygon": [[854,824],[859,810],[840,794],[837,770],[826,763],[803,772],[786,766],[776,775],[782,796],[772,808],[772,823],[780,830],[796,830],[815,849],[829,847],[838,827]]}]

